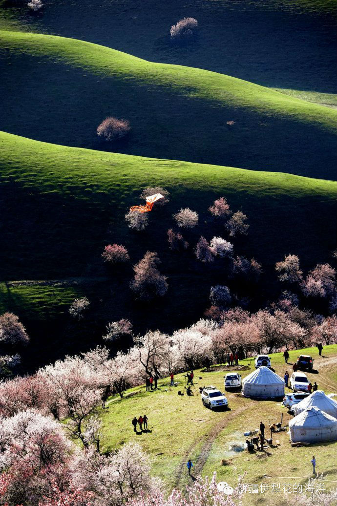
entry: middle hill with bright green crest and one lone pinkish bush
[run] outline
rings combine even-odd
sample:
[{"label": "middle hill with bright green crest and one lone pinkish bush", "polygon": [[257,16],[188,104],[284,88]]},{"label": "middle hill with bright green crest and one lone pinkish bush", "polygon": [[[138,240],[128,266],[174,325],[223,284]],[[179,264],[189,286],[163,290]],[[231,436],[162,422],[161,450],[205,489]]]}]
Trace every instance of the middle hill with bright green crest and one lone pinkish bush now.
[{"label": "middle hill with bright green crest and one lone pinkish bush", "polygon": [[[333,109],[80,40],[2,31],[0,48],[4,131],[63,145],[335,179]],[[97,125],[107,115],[130,120],[127,141],[99,143]]]}]

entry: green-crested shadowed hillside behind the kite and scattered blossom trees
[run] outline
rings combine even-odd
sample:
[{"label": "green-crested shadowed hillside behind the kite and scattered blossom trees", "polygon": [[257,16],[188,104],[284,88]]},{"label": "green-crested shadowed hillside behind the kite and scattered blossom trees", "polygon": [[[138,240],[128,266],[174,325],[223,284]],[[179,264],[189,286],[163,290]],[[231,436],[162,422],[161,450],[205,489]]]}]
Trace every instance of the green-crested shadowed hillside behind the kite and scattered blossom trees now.
[{"label": "green-crested shadowed hillside behind the kite and scattered blossom trees", "polygon": [[[273,265],[289,252],[300,256],[305,270],[331,261],[337,183],[70,148],[7,133],[1,133],[0,140],[2,256],[6,259],[0,279],[37,280],[3,285],[2,309],[9,308],[22,317],[40,342],[45,338],[39,322],[52,317],[63,326],[62,332],[54,335],[49,325],[55,345],[67,346],[76,332],[83,333],[76,325],[65,330],[67,304],[78,290],[92,301],[89,320],[94,329],[87,329],[83,345],[89,347],[101,342],[108,321],[122,317],[131,318],[137,331],[149,326],[172,330],[192,323],[209,304],[210,286],[219,282],[229,284],[235,293],[248,295],[254,309],[283,289]],[[140,202],[139,194],[150,185],[170,191],[170,202],[153,209],[143,233],[132,232],[124,215],[132,204]],[[206,266],[195,259],[200,235],[208,240],[214,235],[232,240],[207,212],[221,195],[234,210],[240,208],[248,216],[249,234],[234,239],[235,254],[254,256],[262,264],[263,288],[240,288],[237,280],[228,279],[226,262]],[[172,215],[182,206],[197,210],[199,224],[184,233],[189,249],[174,254],[168,248],[166,231],[175,226]],[[129,249],[131,262],[124,269],[111,271],[102,262],[103,247],[113,242]],[[135,304],[129,288],[132,264],[147,250],[158,252],[160,270],[169,283],[167,296],[156,303],[155,314],[151,305]],[[80,277],[80,282],[74,277]],[[42,286],[41,280],[46,281]],[[51,296],[53,285],[56,297]],[[55,346],[52,356],[59,352]]]}]

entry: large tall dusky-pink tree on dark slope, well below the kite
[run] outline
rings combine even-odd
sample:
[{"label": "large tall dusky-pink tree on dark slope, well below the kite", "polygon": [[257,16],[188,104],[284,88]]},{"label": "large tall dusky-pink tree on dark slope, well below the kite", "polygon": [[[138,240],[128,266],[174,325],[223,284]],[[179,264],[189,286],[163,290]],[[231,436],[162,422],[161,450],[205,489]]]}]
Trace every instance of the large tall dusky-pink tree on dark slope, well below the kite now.
[{"label": "large tall dusky-pink tree on dark slope, well below the kite", "polygon": [[138,299],[150,300],[165,295],[168,288],[167,278],[157,269],[159,263],[157,254],[147,251],[144,258],[134,266],[135,277],[130,287]]}]

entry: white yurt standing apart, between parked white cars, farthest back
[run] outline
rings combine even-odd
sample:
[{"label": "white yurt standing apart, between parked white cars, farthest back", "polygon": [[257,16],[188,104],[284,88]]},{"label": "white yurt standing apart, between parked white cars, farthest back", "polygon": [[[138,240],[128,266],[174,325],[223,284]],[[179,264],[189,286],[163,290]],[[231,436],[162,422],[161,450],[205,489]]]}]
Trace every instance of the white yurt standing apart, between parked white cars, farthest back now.
[{"label": "white yurt standing apart, between parked white cars, farthest back", "polygon": [[242,380],[242,394],[261,399],[281,397],[284,395],[284,381],[268,367],[262,366]]}]

